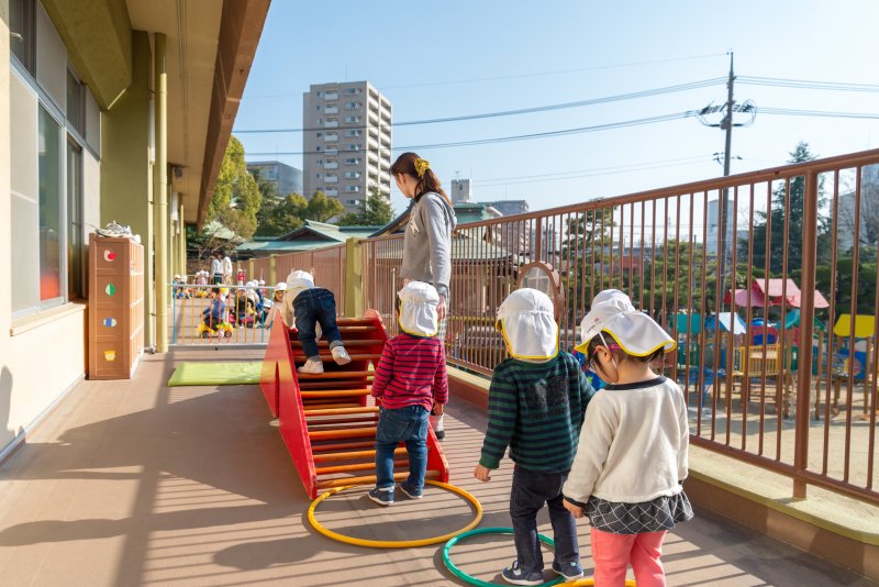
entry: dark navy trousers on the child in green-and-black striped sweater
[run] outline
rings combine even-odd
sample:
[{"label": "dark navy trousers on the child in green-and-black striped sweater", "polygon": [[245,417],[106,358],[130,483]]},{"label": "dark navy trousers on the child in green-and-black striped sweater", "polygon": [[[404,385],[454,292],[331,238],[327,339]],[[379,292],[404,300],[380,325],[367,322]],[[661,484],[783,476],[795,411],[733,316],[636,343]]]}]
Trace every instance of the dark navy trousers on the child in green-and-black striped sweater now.
[{"label": "dark navy trousers on the child in green-and-black striped sweater", "polygon": [[513,520],[515,552],[522,572],[543,571],[543,552],[537,541],[537,512],[543,505],[549,507],[549,521],[555,540],[555,560],[560,565],[580,564],[580,545],[577,542],[577,522],[561,505],[561,486],[568,478],[565,473],[527,470],[519,465],[513,469],[510,491],[510,518]]}]

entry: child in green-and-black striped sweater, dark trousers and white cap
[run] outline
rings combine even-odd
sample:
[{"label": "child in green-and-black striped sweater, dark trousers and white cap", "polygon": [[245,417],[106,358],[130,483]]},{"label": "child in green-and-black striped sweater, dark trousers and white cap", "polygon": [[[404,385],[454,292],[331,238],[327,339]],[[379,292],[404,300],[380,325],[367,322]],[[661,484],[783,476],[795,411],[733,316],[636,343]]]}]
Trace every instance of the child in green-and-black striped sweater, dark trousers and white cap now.
[{"label": "child in green-and-black striped sweater, dark trousers and white cap", "polygon": [[512,358],[491,377],[486,439],[474,476],[488,481],[510,446],[516,558],[501,576],[513,585],[544,583],[537,512],[546,503],[556,543],[553,571],[575,579],[583,569],[577,523],[561,503],[561,486],[592,388],[577,359],[558,351],[558,324],[546,294],[528,288],[510,294],[498,310],[498,329]]}]

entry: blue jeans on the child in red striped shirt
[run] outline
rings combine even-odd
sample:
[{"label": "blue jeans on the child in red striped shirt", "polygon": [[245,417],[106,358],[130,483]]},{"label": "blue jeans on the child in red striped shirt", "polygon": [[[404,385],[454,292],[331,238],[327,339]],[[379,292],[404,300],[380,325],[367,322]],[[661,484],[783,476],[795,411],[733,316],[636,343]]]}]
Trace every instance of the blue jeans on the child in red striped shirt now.
[{"label": "blue jeans on the child in red striped shirt", "polygon": [[427,470],[427,417],[423,406],[408,406],[397,410],[381,408],[376,427],[376,487],[392,489],[393,451],[405,442],[409,453],[409,492],[420,494]]}]

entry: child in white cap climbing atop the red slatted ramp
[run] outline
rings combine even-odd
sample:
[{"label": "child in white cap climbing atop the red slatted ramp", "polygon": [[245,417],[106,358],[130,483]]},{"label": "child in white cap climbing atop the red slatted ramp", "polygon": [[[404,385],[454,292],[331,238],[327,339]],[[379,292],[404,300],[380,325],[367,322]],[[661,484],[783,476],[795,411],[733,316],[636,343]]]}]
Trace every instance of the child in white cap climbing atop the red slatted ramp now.
[{"label": "child in white cap climbing atop the red slatted ramp", "polygon": [[299,332],[302,353],[308,357],[305,364],[297,369],[298,373],[323,373],[323,362],[318,352],[316,324],[321,325],[330,341],[330,353],[336,365],[351,363],[351,356],[345,351],[342,334],[336,326],[336,298],[329,289],[314,287],[314,277],[310,273],[294,270],[287,276],[283,320]]}]

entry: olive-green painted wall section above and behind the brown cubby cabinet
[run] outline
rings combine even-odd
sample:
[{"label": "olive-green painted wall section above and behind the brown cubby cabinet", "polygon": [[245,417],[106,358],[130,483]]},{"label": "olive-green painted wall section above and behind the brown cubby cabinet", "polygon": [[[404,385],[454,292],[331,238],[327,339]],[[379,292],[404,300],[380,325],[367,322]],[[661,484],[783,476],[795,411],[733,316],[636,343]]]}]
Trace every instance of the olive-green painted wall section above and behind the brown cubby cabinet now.
[{"label": "olive-green painted wall section above and behind the brown cubby cabinet", "polygon": [[155,344],[153,296],[153,170],[149,162],[149,38],[132,33],[132,85],[101,115],[101,224],[111,220],[131,225],[144,245],[144,299],[147,317],[144,342]]}]

